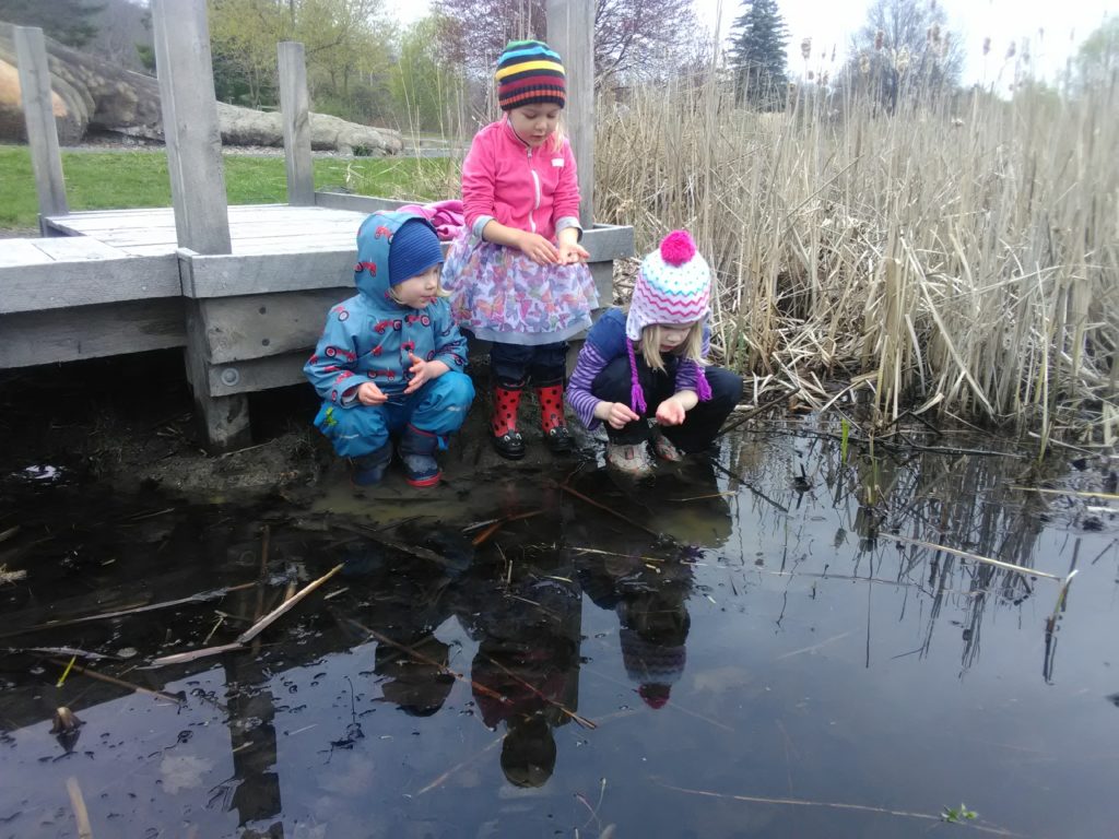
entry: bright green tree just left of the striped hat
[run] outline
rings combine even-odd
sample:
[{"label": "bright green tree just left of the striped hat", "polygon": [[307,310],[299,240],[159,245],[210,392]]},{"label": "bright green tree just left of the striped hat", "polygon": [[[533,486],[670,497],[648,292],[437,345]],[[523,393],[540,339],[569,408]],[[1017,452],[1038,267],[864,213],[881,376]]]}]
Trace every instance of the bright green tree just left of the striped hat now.
[{"label": "bright green tree just left of the striped hat", "polygon": [[449,114],[463,89],[462,77],[441,60],[436,16],[408,27],[401,37],[393,68],[394,111],[402,123],[424,131],[446,132]]}]

